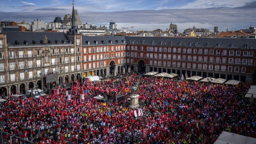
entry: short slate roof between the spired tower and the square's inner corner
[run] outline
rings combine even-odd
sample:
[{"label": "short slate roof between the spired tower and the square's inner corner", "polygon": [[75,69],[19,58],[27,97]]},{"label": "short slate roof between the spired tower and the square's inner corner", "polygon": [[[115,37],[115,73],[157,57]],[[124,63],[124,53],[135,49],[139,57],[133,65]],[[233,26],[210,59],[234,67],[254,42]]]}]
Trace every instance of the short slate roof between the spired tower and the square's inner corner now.
[{"label": "short slate roof between the spired tower and the square's inner corner", "polygon": [[116,44],[119,44],[119,45],[126,44],[125,37],[124,36],[82,36],[83,46],[116,45]]}]

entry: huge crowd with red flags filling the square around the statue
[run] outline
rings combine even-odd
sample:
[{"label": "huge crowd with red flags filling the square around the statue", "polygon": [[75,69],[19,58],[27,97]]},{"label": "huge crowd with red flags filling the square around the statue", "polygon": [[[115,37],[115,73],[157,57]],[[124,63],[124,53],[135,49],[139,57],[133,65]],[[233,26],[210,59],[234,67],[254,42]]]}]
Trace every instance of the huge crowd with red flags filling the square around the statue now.
[{"label": "huge crowd with red flags filling the square around the statue", "polygon": [[[144,104],[131,109],[126,100],[134,82]],[[9,98],[0,105],[0,121],[7,123],[3,131],[43,144],[214,143],[222,131],[256,138],[256,106],[243,97],[249,87],[123,74],[77,82],[68,93],[58,88],[45,98]],[[124,100],[111,104],[93,98],[118,94]]]}]

